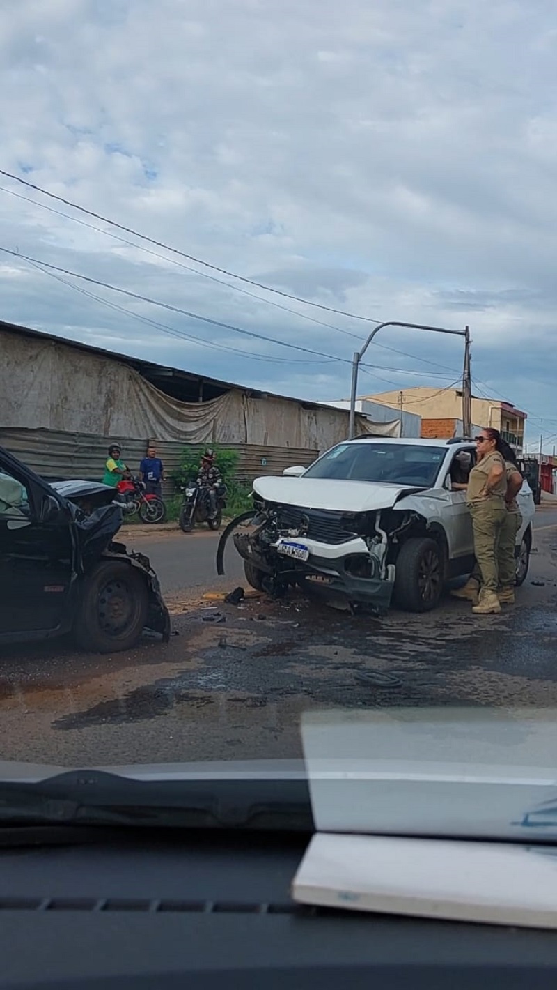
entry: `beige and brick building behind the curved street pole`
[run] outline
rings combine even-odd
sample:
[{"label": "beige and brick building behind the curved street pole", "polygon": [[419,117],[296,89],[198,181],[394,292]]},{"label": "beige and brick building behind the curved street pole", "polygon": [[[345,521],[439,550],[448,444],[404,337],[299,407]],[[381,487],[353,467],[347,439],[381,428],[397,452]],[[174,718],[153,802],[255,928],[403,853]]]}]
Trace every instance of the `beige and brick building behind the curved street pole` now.
[{"label": "beige and brick building behind the curved street pole", "polygon": [[[438,422],[445,420],[447,424],[462,421],[462,389],[458,388],[417,386],[393,392],[380,392],[362,398],[390,406],[391,409],[397,409],[399,412],[418,414],[422,425],[428,420]],[[527,414],[516,409],[510,402],[472,397],[472,423],[499,430],[517,453],[522,453],[524,448],[526,419]]]}]

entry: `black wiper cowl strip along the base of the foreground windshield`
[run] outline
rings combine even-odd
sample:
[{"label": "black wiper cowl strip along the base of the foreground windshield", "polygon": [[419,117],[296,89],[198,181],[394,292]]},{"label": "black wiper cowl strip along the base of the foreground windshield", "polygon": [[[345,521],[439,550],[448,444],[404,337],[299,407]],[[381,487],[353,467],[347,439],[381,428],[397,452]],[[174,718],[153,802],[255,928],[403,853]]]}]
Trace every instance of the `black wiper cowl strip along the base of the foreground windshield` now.
[{"label": "black wiper cowl strip along the base of the foreground windshield", "polygon": [[135,780],[102,770],[0,782],[0,829],[30,825],[314,831],[303,778]]}]

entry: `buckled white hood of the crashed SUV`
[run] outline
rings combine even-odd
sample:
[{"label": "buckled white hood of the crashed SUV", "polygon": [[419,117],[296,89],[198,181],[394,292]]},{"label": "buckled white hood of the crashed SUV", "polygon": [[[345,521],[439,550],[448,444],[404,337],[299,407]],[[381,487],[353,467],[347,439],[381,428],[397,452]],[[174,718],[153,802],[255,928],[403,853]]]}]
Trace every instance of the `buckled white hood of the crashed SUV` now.
[{"label": "buckled white hood of the crashed SUV", "polygon": [[256,478],[253,491],[265,502],[335,512],[373,512],[389,509],[401,495],[421,488],[381,481],[337,481],[327,478]]}]

